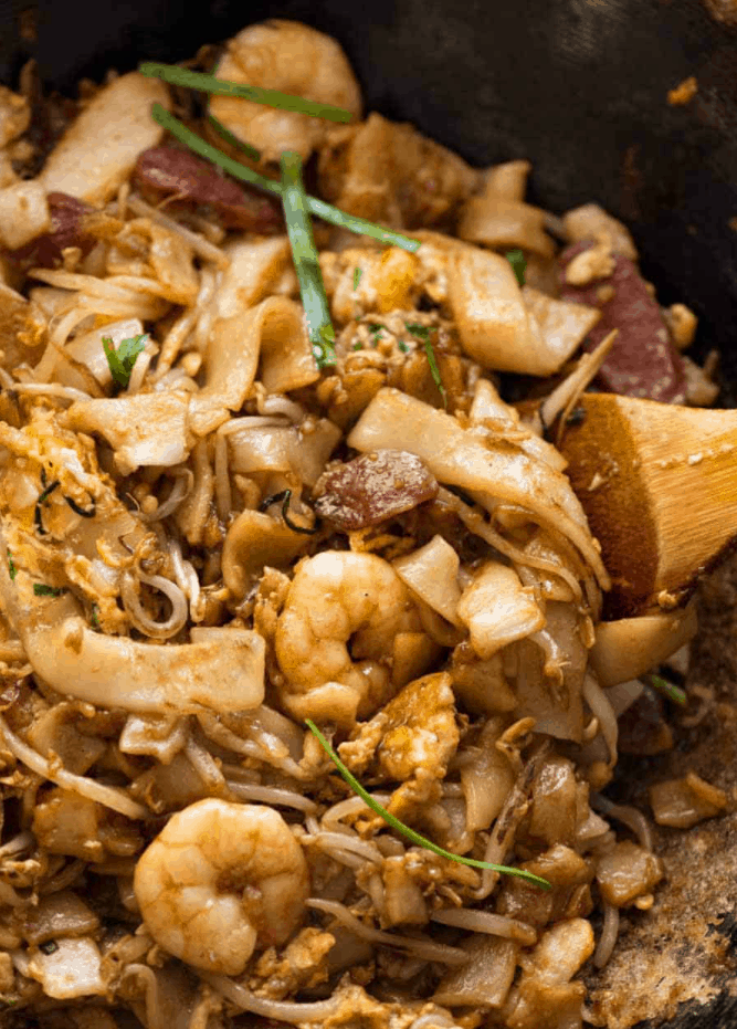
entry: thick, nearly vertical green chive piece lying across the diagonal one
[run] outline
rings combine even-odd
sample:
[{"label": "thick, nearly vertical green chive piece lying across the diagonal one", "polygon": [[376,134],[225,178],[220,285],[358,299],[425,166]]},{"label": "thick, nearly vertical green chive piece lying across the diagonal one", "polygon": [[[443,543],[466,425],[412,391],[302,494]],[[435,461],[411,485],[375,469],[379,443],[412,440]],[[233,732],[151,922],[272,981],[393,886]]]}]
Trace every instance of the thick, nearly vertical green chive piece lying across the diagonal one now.
[{"label": "thick, nearly vertical green chive piece lying across the diagonal one", "polygon": [[299,293],[307,318],[307,332],[318,368],[335,365],[335,329],[325,295],[313,227],[307,211],[307,196],[302,181],[302,158],[286,150],[280,160],[282,169],[282,204],[286,232],[292,244],[292,259],[299,282]]}]

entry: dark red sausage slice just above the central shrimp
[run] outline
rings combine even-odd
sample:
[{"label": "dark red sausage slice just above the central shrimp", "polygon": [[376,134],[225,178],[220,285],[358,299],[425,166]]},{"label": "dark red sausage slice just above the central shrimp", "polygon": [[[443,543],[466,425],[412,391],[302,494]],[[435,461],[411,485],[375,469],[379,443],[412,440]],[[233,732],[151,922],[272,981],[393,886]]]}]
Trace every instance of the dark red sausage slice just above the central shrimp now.
[{"label": "dark red sausage slice just above the central shrimp", "polygon": [[414,454],[377,450],[334,465],[315,490],[317,514],[345,532],[355,532],[434,500],[438,482]]}]

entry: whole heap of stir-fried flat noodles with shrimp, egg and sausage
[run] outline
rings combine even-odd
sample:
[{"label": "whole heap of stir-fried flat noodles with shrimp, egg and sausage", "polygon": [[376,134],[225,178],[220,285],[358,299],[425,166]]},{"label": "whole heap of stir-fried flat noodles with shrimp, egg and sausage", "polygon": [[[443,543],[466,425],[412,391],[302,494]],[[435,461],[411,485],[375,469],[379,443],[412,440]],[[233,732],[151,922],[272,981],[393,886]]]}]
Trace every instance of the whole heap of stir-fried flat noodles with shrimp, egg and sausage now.
[{"label": "whole heap of stir-fried flat noodles with shrimp, egg and sausage", "polygon": [[695,616],[602,620],[559,445],[592,382],[713,402],[692,313],[293,22],[30,64],[0,146],[2,1025],[596,1022],[664,874],[618,718]]}]

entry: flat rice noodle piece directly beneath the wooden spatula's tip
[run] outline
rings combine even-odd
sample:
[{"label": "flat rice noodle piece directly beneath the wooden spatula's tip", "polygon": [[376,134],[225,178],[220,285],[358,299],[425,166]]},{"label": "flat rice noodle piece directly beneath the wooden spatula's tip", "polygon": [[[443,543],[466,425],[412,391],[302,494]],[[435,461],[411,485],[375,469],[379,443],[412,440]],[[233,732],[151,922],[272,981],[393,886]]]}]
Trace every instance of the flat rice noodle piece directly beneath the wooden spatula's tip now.
[{"label": "flat rice noodle piece directly beneath the wooden spatula's tip", "polygon": [[689,642],[697,629],[693,602],[683,610],[600,622],[589,661],[599,684],[614,686],[661,664]]}]

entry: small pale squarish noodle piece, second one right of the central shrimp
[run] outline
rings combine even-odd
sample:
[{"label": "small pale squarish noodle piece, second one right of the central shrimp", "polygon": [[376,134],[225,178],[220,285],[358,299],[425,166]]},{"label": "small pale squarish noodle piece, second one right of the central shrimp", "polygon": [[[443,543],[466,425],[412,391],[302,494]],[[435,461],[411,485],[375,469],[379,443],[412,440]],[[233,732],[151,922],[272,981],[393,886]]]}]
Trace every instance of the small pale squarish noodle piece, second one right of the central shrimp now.
[{"label": "small pale squarish noodle piece, second one right of the central shrimp", "polygon": [[488,561],[463,591],[457,617],[471,633],[471,645],[486,660],[515,640],[545,626],[534,591],[525,588],[514,568]]}]

